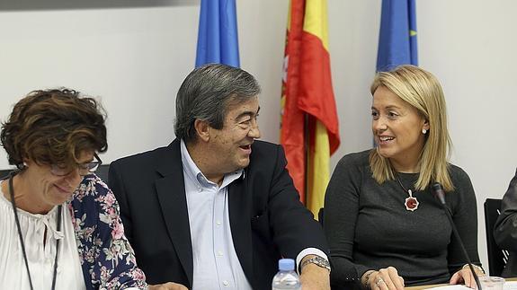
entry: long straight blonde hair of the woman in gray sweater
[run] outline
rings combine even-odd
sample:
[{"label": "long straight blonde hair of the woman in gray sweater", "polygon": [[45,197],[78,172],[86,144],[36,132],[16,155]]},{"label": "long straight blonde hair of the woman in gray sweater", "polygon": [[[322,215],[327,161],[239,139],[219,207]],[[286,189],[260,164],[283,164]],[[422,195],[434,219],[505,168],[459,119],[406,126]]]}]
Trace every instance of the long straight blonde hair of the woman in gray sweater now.
[{"label": "long straight blonde hair of the woman in gray sweater", "polygon": [[[431,182],[440,182],[443,189],[454,189],[449,174],[450,136],[447,129],[445,98],[438,79],[417,66],[397,66],[390,72],[379,72],[370,92],[383,86],[413,106],[429,123],[429,132],[420,153],[420,173],[415,189],[426,189]],[[370,151],[370,168],[379,183],[395,180],[395,170],[379,149]]]}]

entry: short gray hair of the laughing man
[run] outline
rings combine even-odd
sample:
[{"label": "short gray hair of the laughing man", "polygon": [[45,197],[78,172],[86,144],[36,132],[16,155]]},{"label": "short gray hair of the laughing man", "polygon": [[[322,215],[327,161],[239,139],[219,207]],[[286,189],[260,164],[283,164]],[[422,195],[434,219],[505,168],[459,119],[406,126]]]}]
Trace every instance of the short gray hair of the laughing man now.
[{"label": "short gray hair of the laughing man", "polygon": [[248,101],[261,92],[253,75],[220,64],[196,67],[187,75],[176,95],[174,133],[185,142],[196,139],[194,121],[221,129],[229,103]]}]

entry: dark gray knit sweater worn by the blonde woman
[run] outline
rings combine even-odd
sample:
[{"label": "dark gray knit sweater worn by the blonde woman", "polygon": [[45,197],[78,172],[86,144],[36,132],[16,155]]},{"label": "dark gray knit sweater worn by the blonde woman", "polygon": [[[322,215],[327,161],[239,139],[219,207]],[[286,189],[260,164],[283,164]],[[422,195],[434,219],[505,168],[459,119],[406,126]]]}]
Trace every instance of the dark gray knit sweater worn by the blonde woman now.
[{"label": "dark gray knit sweater worn by the blonde woman", "polygon": [[[344,156],[325,194],[325,233],[333,266],[331,281],[344,285],[368,269],[393,266],[406,286],[446,283],[465,263],[447,216],[431,189],[416,191],[419,206],[406,210],[408,193],[397,180],[377,183],[370,151]],[[398,173],[404,188],[414,189],[418,173]],[[446,202],[470,259],[477,264],[477,206],[465,171],[450,165],[455,190]],[[413,190],[414,191],[414,190]]]}]

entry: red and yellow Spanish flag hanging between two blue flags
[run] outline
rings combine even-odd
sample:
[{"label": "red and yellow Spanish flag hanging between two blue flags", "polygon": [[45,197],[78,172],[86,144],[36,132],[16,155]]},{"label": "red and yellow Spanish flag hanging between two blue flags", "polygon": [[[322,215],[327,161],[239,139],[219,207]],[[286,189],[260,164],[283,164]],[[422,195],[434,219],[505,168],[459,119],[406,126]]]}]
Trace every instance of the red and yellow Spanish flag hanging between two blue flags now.
[{"label": "red and yellow Spanish flag hanging between two blue flags", "polygon": [[339,146],[326,0],[291,0],[281,96],[281,145],[300,199],[317,216]]}]

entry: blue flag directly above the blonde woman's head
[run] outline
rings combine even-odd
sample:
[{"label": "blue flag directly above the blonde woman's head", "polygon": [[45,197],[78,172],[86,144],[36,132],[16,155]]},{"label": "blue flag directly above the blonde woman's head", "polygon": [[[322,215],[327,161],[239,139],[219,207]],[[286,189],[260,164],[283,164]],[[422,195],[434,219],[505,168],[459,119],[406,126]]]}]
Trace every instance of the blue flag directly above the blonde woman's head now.
[{"label": "blue flag directly above the blonde woman's head", "polygon": [[382,0],[377,71],[418,66],[414,0]]}]

